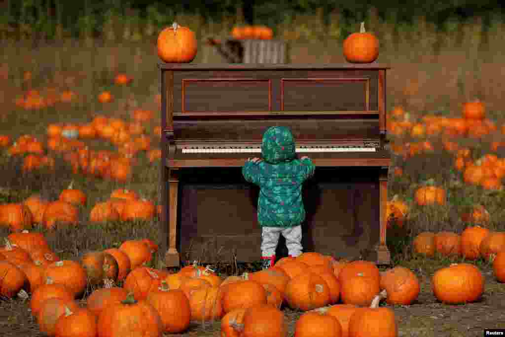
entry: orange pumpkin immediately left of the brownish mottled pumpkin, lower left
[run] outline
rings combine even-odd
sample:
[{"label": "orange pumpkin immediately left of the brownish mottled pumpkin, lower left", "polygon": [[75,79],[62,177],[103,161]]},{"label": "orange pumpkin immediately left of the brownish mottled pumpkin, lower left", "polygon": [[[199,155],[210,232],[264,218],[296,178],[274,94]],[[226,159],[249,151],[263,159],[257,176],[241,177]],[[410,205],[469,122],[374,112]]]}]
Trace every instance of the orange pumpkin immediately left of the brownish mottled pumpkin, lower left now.
[{"label": "orange pumpkin immediately left of the brownish mottled pumpkin, lower left", "polygon": [[55,283],[65,285],[77,297],[81,295],[87,284],[86,270],[79,262],[62,260],[45,267],[44,279],[51,278]]}]

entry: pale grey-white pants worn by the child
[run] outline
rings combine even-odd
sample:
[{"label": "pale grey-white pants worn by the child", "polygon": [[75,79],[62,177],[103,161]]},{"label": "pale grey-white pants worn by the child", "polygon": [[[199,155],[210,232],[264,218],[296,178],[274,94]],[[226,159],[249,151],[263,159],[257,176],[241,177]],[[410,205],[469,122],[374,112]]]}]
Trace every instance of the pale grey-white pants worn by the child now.
[{"label": "pale grey-white pants worn by the child", "polygon": [[275,255],[279,243],[279,235],[286,239],[288,254],[297,257],[301,254],[301,225],[294,227],[262,227],[261,254],[262,256]]}]

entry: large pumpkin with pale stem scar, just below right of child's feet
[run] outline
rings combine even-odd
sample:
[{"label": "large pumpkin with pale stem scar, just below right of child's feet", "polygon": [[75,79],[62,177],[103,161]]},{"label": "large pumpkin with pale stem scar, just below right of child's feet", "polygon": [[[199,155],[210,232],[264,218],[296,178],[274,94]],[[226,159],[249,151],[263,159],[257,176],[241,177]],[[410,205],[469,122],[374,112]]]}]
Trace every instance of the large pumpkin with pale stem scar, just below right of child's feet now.
[{"label": "large pumpkin with pale stem scar, just below right of child's feet", "polygon": [[314,273],[301,273],[290,279],[285,296],[289,307],[297,310],[319,308],[331,301],[328,284]]}]

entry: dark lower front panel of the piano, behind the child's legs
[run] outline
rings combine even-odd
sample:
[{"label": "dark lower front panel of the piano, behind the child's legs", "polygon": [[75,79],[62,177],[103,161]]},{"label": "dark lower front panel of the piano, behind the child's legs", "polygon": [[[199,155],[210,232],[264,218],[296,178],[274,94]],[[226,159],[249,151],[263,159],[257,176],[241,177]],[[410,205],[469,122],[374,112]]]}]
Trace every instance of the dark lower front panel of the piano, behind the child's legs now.
[{"label": "dark lower front panel of the piano, behind the child's legs", "polygon": [[[244,182],[240,169],[186,169],[180,184],[178,248],[182,260],[257,261],[261,228],[259,188]],[[379,243],[378,169],[316,169],[303,190],[307,251],[359,257]],[[219,252],[219,253],[218,253]],[[278,256],[286,256],[284,240]]]}]

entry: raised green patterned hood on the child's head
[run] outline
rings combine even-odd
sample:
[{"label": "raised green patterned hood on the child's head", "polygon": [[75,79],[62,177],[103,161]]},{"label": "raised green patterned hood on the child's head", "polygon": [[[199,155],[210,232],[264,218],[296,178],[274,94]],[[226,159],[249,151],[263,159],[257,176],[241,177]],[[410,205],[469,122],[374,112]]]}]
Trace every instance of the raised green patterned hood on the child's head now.
[{"label": "raised green patterned hood on the child's head", "polygon": [[263,134],[261,153],[272,164],[293,160],[295,141],[291,130],[285,126],[269,127]]}]

